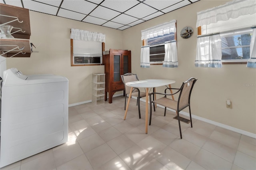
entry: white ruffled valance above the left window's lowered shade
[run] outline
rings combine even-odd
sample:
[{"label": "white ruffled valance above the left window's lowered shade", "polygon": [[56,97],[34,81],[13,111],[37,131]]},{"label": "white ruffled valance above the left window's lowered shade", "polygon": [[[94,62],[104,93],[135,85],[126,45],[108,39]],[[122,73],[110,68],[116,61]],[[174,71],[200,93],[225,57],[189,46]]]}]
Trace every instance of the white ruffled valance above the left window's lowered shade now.
[{"label": "white ruffled valance above the left window's lowered shade", "polygon": [[105,42],[105,34],[85,30],[71,29],[70,38],[91,42]]}]

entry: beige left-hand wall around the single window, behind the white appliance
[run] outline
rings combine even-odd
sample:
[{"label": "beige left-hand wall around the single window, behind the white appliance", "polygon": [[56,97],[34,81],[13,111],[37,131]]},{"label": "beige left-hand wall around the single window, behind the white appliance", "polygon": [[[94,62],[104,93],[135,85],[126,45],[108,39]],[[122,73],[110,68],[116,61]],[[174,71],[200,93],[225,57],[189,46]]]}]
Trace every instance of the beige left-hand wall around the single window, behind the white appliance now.
[{"label": "beige left-hand wall around the single window, behind the white appliance", "polygon": [[123,49],[122,31],[30,11],[32,42],[39,53],[30,58],[8,58],[7,69],[16,67],[23,74],[62,75],[69,80],[69,104],[92,99],[92,73],[104,73],[104,65],[71,67],[70,29],[106,34],[105,49]]}]

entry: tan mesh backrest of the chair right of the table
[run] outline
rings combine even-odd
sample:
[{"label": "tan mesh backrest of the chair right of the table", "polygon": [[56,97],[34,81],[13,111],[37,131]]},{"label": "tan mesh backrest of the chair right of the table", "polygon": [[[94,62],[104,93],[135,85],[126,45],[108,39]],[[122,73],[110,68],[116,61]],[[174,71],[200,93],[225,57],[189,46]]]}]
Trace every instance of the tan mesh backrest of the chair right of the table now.
[{"label": "tan mesh backrest of the chair right of the table", "polygon": [[182,83],[180,87],[180,96],[178,99],[179,110],[182,110],[188,105],[190,105],[190,95],[196,81],[197,79],[191,77],[190,79]]}]

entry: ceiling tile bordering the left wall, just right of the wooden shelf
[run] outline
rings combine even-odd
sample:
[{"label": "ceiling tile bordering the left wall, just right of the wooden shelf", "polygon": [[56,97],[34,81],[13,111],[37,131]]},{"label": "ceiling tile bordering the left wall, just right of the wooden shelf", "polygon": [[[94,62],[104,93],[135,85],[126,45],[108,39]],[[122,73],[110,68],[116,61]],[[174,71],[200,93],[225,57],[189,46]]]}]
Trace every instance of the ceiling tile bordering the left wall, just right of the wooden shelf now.
[{"label": "ceiling tile bordering the left wall, just right of the wooden shelf", "polygon": [[50,6],[46,4],[42,4],[40,2],[32,1],[32,0],[23,0],[24,8],[28,8],[32,11],[42,12],[46,14],[56,15],[58,8],[55,6]]}]

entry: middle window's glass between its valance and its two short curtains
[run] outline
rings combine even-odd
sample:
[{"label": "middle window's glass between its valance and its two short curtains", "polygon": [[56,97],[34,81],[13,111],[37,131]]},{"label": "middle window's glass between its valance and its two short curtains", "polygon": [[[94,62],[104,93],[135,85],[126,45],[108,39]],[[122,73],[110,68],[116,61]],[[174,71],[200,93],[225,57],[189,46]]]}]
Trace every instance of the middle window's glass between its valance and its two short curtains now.
[{"label": "middle window's glass between its valance and its two short curtains", "polygon": [[150,46],[150,64],[162,64],[164,62],[164,42],[172,41],[174,37],[174,32],[171,32],[170,34],[147,39],[147,45]]}]

